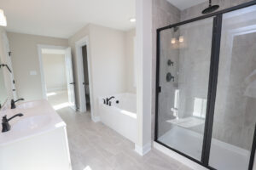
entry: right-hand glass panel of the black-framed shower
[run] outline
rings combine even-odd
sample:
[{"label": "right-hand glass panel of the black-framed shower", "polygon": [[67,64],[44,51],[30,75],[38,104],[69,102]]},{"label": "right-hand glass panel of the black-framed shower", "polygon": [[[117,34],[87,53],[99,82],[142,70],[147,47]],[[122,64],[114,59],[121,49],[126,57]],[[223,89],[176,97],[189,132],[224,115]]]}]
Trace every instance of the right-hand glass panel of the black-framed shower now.
[{"label": "right-hand glass panel of the black-framed shower", "polygon": [[256,122],[256,7],[223,15],[209,165],[246,170]]}]

